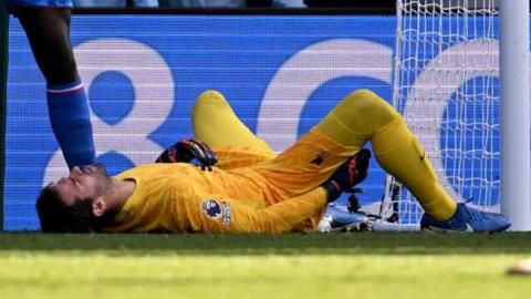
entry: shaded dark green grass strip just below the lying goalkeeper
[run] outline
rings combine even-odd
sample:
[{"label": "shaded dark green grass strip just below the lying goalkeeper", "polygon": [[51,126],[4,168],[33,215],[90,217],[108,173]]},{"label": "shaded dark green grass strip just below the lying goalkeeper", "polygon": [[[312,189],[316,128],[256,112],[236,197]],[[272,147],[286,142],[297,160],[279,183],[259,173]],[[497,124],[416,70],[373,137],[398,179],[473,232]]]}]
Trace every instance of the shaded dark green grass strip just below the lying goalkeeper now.
[{"label": "shaded dark green grass strip just below the lying goalkeeper", "polygon": [[0,254],[20,250],[108,255],[531,255],[531,234],[0,234]]}]

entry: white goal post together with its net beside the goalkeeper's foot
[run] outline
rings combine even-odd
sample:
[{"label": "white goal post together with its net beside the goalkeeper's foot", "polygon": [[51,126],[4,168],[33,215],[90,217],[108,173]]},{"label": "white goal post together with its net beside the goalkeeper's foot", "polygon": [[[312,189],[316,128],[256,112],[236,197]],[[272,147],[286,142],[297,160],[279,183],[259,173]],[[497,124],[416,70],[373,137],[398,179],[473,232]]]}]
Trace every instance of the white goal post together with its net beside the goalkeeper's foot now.
[{"label": "white goal post together with its net beside the goalkeeper's foot", "polygon": [[393,104],[450,195],[512,230],[531,230],[529,43],[528,0],[397,0]]}]

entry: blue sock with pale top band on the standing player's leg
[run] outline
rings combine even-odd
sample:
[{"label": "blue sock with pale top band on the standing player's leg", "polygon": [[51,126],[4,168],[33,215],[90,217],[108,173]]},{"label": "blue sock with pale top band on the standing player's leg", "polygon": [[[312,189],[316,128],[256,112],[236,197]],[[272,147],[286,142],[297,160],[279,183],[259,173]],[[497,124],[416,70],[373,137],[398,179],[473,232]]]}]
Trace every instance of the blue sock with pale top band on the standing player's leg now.
[{"label": "blue sock with pale top band on the standing player's leg", "polygon": [[83,83],[48,85],[48,111],[53,134],[69,168],[94,164],[92,123]]}]

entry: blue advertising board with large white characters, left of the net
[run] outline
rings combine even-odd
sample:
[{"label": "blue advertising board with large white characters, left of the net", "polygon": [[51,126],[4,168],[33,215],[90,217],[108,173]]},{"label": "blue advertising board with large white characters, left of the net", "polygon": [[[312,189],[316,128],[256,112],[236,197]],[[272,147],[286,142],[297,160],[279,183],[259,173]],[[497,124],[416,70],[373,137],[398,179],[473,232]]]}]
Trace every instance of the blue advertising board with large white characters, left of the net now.
[{"label": "blue advertising board with large white characters, left of the net", "polygon": [[[98,161],[117,174],[191,136],[205,90],[222,92],[277,152],[356,89],[391,102],[395,27],[382,16],[74,16]],[[39,229],[35,197],[67,169],[15,19],[9,42],[4,228]],[[385,173],[371,167],[362,205],[383,194]]]}]

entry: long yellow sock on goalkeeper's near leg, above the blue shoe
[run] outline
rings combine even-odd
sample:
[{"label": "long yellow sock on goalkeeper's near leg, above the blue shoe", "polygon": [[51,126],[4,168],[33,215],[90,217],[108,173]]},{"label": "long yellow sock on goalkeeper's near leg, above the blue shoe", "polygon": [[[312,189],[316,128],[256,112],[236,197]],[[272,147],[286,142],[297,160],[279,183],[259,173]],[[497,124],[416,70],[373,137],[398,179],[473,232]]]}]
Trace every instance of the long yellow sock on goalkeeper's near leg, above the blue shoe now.
[{"label": "long yellow sock on goalkeeper's near leg, above the blue shoe", "polygon": [[371,140],[381,166],[412,192],[426,213],[439,220],[454,215],[456,202],[438,183],[423,146],[402,116],[375,93],[351,93],[317,127],[343,145],[361,148]]}]

